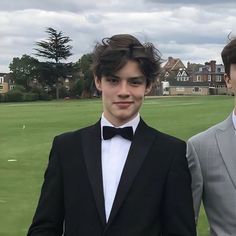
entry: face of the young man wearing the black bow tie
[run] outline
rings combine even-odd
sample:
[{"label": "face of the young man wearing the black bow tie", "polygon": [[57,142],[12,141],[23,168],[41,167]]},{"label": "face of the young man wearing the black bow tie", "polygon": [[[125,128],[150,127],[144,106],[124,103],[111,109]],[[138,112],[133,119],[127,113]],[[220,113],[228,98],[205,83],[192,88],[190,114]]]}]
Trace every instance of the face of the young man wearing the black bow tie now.
[{"label": "face of the young man wearing the black bow tie", "polygon": [[95,84],[102,92],[104,116],[114,126],[132,120],[139,112],[144,95],[151,89],[134,61],[128,61],[119,71],[101,80],[95,77]]}]

